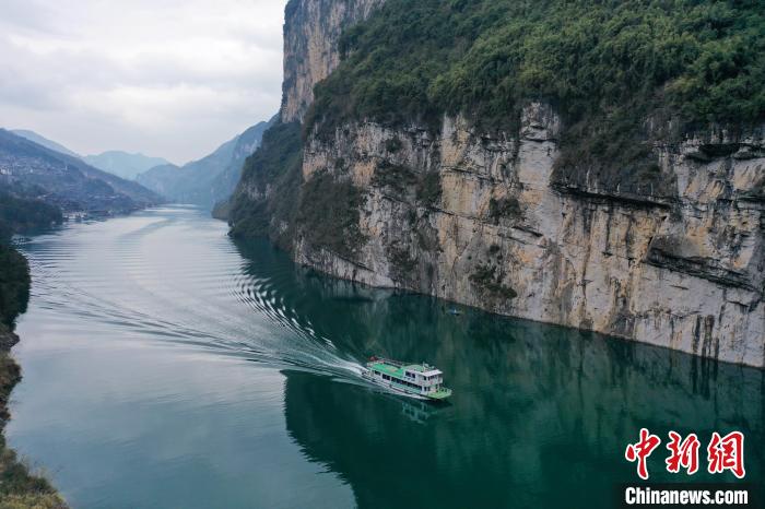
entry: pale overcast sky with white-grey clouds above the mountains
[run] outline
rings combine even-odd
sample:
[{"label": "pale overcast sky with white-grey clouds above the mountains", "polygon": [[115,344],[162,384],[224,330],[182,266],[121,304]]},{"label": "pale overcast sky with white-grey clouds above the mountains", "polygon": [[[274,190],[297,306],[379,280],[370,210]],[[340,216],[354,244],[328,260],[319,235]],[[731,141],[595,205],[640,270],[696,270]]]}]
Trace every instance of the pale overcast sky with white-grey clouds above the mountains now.
[{"label": "pale overcast sky with white-grey clouds above the mountains", "polygon": [[279,109],[286,0],[0,0],[0,127],[186,163]]}]

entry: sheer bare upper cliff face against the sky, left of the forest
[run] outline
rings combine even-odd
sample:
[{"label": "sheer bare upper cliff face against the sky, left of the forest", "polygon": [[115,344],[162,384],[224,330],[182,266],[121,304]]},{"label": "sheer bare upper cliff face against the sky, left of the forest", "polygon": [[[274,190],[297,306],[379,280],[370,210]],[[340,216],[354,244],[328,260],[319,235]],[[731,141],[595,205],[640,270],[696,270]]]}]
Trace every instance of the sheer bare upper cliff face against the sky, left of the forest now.
[{"label": "sheer bare upper cliff face against the sky, left of the forest", "polygon": [[366,19],[385,0],[291,0],[284,13],[282,122],[302,121],[314,85],[340,63],[343,28]]}]

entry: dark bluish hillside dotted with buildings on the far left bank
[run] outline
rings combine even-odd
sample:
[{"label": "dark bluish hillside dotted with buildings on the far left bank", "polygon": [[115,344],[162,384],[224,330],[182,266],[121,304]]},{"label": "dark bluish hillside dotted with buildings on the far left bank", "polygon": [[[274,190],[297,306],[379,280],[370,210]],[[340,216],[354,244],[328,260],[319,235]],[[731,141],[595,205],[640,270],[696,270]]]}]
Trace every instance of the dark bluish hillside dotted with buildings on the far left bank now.
[{"label": "dark bluish hillside dotted with buildings on the far left bank", "polygon": [[4,129],[0,129],[0,187],[24,189],[67,212],[125,213],[162,201],[137,182]]}]

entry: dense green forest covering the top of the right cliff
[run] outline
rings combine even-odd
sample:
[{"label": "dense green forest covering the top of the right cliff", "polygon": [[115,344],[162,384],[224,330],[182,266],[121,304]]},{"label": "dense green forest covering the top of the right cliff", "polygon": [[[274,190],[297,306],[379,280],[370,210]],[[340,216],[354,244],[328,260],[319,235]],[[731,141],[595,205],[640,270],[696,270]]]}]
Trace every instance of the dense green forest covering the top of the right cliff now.
[{"label": "dense green forest covering the top of the right cliff", "polygon": [[[514,132],[522,106],[540,100],[567,127],[565,171],[658,186],[651,137],[765,120],[764,34],[757,0],[388,0],[344,33],[307,128],[437,130],[444,114],[463,114]],[[649,132],[669,119],[673,133]]]}]

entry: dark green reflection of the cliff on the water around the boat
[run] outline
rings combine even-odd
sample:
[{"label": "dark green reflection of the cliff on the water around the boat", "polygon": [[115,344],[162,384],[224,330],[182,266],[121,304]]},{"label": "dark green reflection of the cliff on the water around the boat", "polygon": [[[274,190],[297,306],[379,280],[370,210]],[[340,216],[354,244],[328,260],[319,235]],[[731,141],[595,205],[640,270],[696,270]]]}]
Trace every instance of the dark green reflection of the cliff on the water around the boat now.
[{"label": "dark green reflection of the cliff on the water around the boat", "polygon": [[[763,372],[645,344],[505,319],[429,297],[377,291],[294,268],[263,244],[239,245],[255,279],[330,338],[341,356],[425,360],[451,404],[432,406],[329,377],[286,371],[287,430],[348,480],[361,507],[611,507],[640,427],[662,437],[746,435],[748,481],[763,478]],[[664,472],[655,481],[690,481]],[[696,474],[693,481],[734,481]]]}]

